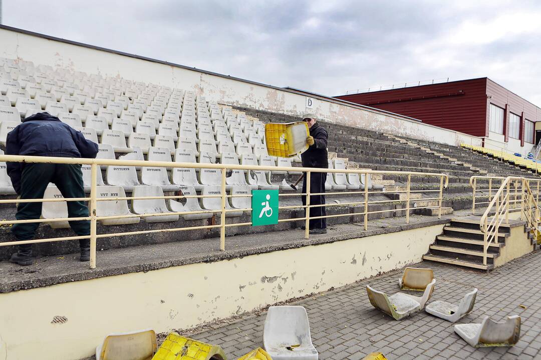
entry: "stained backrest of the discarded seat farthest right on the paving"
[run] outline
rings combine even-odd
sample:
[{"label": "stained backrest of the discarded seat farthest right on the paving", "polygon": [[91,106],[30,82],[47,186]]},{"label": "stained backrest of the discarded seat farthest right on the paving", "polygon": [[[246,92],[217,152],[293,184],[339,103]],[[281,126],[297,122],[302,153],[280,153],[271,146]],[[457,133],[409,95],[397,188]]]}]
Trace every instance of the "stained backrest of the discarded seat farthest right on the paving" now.
[{"label": "stained backrest of the discarded seat farthest right on the paving", "polygon": [[503,322],[486,317],[481,323],[479,343],[514,345],[520,336],[520,316],[507,316]]}]

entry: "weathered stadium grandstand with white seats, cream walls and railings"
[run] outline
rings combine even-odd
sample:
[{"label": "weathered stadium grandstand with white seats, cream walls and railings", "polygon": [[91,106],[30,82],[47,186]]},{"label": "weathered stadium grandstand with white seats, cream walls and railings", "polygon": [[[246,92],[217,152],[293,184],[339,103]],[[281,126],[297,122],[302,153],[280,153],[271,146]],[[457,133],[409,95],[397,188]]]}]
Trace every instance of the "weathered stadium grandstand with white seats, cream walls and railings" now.
[{"label": "weathered stadium grandstand with white seats, cream walls and railings", "polygon": [[[197,328],[423,259],[491,270],[535,249],[541,167],[479,137],[9,26],[0,44],[0,146],[48,112],[99,147],[0,156],[2,360],[86,358],[114,332]],[[329,231],[315,236],[291,184],[318,169],[269,155],[265,137],[306,112],[329,134]],[[90,267],[52,184],[34,264],[7,261],[21,222],[7,161],[82,164]],[[255,189],[278,190],[276,223],[254,226]],[[5,315],[14,307],[28,310]]]}]

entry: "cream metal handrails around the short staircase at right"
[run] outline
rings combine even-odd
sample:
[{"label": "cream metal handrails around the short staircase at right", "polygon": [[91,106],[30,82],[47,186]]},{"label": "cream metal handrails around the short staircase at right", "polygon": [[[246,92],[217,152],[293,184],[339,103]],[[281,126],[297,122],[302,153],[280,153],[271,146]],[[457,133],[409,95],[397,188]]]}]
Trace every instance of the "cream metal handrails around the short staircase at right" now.
[{"label": "cream metal handrails around the short staircase at right", "polygon": [[[481,180],[489,182],[488,205],[480,218],[479,227],[483,233],[483,265],[487,262],[487,252],[492,243],[498,243],[499,228],[502,223],[509,223],[509,212],[511,208],[520,209],[520,219],[526,220],[528,227],[537,239],[539,213],[539,179],[527,179],[519,176],[472,176],[470,185],[473,187],[473,206],[476,205],[477,183]],[[499,182],[499,186],[493,186]],[[530,184],[536,184],[536,192],[532,192]],[[494,194],[492,195],[492,189]],[[477,202],[477,205],[483,202]],[[472,209],[474,211],[474,209]]]}]

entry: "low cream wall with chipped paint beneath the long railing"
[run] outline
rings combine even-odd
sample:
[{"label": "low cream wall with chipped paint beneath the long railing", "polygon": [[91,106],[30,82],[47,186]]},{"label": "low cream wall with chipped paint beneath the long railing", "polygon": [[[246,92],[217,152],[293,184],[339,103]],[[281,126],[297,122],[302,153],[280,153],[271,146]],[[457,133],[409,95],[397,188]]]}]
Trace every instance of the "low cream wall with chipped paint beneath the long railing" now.
[{"label": "low cream wall with chipped paint beneath the long railing", "polygon": [[0,294],[26,309],[0,313],[0,336],[7,360],[87,357],[111,332],[196,327],[419,262],[443,226]]}]

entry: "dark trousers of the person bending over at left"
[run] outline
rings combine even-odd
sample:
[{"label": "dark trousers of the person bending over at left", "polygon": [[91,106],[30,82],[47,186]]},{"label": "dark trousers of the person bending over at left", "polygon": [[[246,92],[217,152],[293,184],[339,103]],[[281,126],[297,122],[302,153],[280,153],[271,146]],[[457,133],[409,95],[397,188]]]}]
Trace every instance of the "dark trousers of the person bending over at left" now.
[{"label": "dark trousers of the person bending over at left", "polygon": [[[21,199],[43,199],[45,188],[52,182],[64,198],[84,198],[83,173],[77,164],[25,164],[21,176]],[[19,202],[17,220],[39,219],[42,202]],[[88,207],[84,201],[68,201],[68,217],[83,218],[88,216]],[[17,223],[11,232],[17,240],[31,240],[36,235],[38,222]],[[90,221],[70,221],[71,229],[78,236],[90,235]],[[90,240],[79,240],[81,248],[90,247]],[[31,250],[31,244],[19,245],[19,251]]]}]

